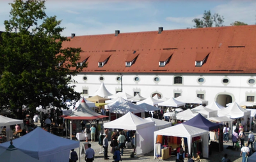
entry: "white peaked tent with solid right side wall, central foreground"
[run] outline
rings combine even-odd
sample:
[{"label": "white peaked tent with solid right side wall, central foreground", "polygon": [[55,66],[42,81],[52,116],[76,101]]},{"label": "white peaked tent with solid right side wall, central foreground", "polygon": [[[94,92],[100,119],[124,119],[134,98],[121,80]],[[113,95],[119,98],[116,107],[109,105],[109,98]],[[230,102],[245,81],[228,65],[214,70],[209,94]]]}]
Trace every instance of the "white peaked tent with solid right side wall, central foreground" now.
[{"label": "white peaked tent with solid right side wall, central foreground", "polygon": [[105,122],[104,128],[127,129],[136,131],[136,154],[146,154],[153,150],[155,122],[147,121],[131,112],[115,119]]}]

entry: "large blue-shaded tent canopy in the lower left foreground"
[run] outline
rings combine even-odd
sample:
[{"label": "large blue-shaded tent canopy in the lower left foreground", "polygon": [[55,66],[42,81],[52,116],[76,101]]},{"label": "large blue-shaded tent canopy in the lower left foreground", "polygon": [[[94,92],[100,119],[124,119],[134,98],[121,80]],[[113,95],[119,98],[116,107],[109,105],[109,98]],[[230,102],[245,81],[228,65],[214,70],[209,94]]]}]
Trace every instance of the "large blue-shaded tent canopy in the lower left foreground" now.
[{"label": "large blue-shaded tent canopy in the lower left foreground", "polygon": [[[70,149],[79,147],[79,141],[52,135],[40,127],[12,142],[20,151],[44,162],[68,162]],[[9,145],[4,142],[0,147],[7,149]]]}]

